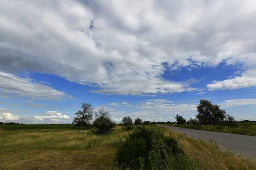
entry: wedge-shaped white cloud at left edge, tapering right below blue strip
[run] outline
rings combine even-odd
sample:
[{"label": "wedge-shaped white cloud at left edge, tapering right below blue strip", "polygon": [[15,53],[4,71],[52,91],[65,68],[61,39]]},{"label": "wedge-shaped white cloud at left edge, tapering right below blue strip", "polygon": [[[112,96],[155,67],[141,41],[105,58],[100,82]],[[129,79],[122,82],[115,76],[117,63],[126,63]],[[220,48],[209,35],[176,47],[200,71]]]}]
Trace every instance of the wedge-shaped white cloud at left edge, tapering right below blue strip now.
[{"label": "wedge-shaped white cloud at left edge, tapering right below blue strip", "polygon": [[63,91],[55,90],[33,79],[17,77],[0,71],[0,94],[2,96],[17,95],[32,99],[64,100],[71,98]]}]

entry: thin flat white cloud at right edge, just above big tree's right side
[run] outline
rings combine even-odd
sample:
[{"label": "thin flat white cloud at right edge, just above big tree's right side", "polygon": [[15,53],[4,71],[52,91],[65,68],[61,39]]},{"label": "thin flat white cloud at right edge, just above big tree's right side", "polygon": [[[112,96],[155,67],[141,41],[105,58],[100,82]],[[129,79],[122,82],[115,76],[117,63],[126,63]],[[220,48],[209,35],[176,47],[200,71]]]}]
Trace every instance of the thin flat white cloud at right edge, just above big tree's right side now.
[{"label": "thin flat white cloud at right edge, just above big tree's right side", "polygon": [[223,108],[230,108],[235,106],[245,106],[245,105],[255,105],[256,99],[233,99],[233,100],[225,100],[221,104],[219,104]]}]

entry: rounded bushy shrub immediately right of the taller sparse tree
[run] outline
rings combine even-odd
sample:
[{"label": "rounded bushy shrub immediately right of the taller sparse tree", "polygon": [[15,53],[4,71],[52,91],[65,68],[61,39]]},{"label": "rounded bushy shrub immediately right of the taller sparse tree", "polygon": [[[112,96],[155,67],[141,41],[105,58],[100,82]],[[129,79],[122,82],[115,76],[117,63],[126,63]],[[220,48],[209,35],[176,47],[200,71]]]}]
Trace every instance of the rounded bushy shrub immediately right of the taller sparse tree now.
[{"label": "rounded bushy shrub immediately right of the taller sparse tree", "polygon": [[108,133],[115,125],[116,123],[111,120],[109,112],[104,111],[104,108],[99,109],[99,111],[95,113],[95,120],[93,121],[95,133]]}]

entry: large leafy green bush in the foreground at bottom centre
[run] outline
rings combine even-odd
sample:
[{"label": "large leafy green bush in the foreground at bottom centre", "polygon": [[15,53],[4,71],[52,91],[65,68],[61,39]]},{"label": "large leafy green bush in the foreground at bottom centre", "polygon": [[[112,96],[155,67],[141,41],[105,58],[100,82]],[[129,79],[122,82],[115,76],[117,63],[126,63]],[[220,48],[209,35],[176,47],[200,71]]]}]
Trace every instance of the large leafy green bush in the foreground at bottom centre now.
[{"label": "large leafy green bush in the foreground at bottom centre", "polygon": [[114,163],[126,170],[183,170],[196,167],[196,163],[183,154],[175,138],[145,126],[136,127],[133,133],[126,136],[126,140],[119,145]]}]

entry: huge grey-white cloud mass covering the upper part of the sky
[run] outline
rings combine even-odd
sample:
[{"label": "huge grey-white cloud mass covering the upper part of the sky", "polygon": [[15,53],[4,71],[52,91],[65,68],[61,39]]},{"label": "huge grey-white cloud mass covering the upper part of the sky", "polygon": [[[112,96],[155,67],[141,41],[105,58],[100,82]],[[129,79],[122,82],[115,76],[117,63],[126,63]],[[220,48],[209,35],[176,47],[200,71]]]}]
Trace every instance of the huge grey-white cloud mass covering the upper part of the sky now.
[{"label": "huge grey-white cloud mass covering the upper part of the sky", "polygon": [[191,91],[163,79],[166,69],[256,67],[255,3],[2,0],[0,69],[54,74],[102,94]]}]

